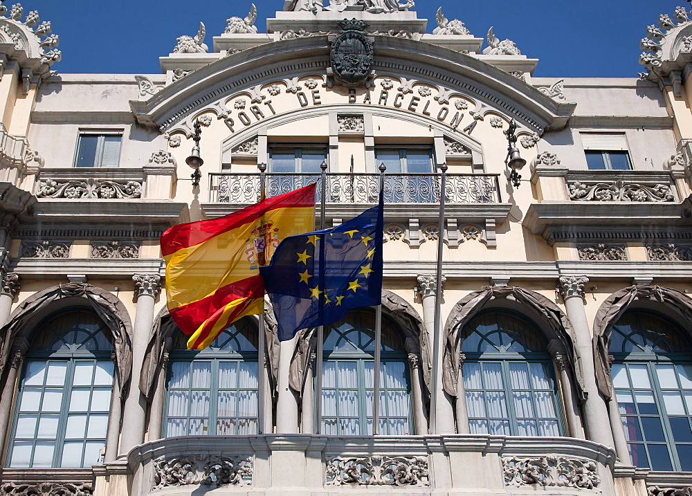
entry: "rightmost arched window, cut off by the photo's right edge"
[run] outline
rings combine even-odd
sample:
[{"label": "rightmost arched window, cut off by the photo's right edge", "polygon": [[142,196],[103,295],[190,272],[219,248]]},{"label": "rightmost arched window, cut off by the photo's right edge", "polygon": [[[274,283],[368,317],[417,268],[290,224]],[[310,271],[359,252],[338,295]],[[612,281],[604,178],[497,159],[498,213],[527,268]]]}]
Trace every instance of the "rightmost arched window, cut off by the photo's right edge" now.
[{"label": "rightmost arched window, cut off by the photo's right edge", "polygon": [[677,324],[627,312],[612,325],[612,382],[632,463],[692,471],[692,351]]}]

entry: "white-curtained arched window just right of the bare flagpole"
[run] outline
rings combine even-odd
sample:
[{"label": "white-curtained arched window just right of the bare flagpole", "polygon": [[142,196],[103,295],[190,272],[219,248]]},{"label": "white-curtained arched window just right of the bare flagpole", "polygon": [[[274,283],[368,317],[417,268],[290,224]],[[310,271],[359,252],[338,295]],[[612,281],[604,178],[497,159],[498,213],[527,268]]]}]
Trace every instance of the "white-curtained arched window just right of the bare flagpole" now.
[{"label": "white-curtained arched window just right of the bare flagpole", "polygon": [[554,367],[536,325],[488,312],[463,331],[463,376],[472,434],[564,435]]}]

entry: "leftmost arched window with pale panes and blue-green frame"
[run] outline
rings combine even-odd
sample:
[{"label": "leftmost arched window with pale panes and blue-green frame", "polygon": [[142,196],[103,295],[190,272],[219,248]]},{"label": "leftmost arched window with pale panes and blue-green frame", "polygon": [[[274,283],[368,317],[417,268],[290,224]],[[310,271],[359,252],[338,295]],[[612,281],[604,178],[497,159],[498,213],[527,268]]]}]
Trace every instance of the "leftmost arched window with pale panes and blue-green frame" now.
[{"label": "leftmost arched window with pale panes and blue-green frame", "polygon": [[89,467],[106,443],[113,346],[98,315],[79,309],[39,325],[24,360],[8,467]]}]

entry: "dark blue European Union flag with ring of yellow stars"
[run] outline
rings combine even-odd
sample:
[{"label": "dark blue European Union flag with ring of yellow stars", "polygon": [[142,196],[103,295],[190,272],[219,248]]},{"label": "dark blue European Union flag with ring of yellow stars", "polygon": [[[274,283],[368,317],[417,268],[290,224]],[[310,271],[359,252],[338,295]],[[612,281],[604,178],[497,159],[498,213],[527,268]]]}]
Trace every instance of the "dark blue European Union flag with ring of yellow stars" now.
[{"label": "dark blue European Union flag with ring of yellow stars", "polygon": [[381,304],[383,202],[336,228],[286,237],[260,267],[279,340]]}]

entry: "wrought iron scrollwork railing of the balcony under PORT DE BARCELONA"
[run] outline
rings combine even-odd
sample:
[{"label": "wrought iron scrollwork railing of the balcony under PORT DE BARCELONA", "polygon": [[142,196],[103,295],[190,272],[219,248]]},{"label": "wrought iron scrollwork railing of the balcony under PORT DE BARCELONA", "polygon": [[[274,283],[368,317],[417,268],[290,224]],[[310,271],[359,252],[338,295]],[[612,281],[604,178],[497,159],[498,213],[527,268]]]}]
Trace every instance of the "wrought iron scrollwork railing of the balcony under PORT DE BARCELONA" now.
[{"label": "wrought iron scrollwork railing of the balcony under PORT DE BARCELONA", "polygon": [[[439,203],[440,174],[385,174],[385,203]],[[266,174],[266,196],[319,183],[319,174]],[[259,174],[210,174],[210,201],[255,203]],[[318,201],[321,201],[318,187]],[[500,203],[498,174],[447,174],[446,203]],[[327,203],[377,203],[379,174],[327,174]]]}]

